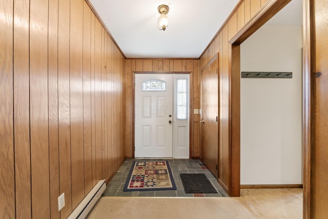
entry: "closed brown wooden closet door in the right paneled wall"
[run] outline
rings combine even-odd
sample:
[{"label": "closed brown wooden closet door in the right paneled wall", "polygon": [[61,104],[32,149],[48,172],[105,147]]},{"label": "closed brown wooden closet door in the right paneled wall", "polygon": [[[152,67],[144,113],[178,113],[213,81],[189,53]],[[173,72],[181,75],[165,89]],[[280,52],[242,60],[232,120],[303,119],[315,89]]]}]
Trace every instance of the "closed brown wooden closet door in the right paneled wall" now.
[{"label": "closed brown wooden closet door in the right paneled wall", "polygon": [[201,72],[201,160],[218,177],[218,61]]}]

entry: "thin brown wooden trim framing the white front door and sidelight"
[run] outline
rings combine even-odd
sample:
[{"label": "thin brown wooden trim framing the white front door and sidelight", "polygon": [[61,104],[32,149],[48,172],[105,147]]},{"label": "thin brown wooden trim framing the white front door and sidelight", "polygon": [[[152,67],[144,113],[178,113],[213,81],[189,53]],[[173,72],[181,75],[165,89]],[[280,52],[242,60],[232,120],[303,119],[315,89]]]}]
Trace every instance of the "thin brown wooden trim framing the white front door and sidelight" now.
[{"label": "thin brown wooden trim framing the white front door and sidelight", "polygon": [[[192,121],[193,121],[193,114],[192,114],[192,75],[191,72],[142,72],[142,71],[133,71],[132,72],[132,158],[135,158],[135,75],[136,74],[189,74],[189,158],[192,158],[191,155],[191,144],[192,144]],[[173,83],[174,84],[174,83]],[[174,149],[174,145],[173,145]],[[173,151],[174,156],[174,151]]]}]

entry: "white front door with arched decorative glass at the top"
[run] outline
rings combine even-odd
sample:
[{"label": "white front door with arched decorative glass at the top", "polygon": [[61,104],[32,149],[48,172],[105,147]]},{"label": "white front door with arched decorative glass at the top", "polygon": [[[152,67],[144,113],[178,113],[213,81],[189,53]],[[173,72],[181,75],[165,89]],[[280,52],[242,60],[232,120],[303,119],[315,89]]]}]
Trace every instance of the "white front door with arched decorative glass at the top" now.
[{"label": "white front door with arched decorative glass at the top", "polygon": [[173,157],[173,74],[135,74],[135,157]]}]

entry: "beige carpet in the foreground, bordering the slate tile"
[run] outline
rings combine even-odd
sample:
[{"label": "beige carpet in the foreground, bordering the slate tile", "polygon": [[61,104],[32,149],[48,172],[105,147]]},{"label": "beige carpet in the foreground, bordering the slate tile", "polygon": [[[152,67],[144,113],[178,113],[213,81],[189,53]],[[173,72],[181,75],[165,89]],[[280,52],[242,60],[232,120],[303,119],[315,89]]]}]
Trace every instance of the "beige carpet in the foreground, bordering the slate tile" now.
[{"label": "beige carpet in the foreground, bordering the slate tile", "polygon": [[302,189],[242,189],[240,197],[101,197],[88,218],[302,218]]}]

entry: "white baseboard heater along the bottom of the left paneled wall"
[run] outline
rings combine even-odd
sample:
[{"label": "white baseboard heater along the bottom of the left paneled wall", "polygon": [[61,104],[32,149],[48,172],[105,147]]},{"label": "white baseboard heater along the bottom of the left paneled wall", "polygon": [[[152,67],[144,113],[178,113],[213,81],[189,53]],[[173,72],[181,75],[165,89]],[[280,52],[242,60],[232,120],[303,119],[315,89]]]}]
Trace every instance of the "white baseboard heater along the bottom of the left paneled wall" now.
[{"label": "white baseboard heater along the bottom of the left paneled wall", "polygon": [[87,194],[82,202],[69,215],[69,219],[86,218],[106,189],[105,180],[100,180]]}]

